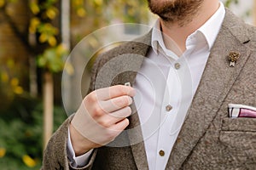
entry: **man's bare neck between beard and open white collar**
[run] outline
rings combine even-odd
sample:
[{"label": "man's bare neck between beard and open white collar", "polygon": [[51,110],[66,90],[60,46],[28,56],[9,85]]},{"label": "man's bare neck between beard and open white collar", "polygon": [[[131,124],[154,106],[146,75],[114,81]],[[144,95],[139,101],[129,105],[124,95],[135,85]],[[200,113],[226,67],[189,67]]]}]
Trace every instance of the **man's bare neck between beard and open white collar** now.
[{"label": "man's bare neck between beard and open white collar", "polygon": [[[187,37],[204,25],[204,23],[211,18],[212,14],[218,10],[218,7],[218,0],[205,0],[193,20],[189,21],[189,23],[186,23],[184,26],[180,26],[178,23],[168,23],[160,20],[166,48],[172,50],[177,55],[183,54],[186,50]],[[176,42],[177,47],[173,46],[173,41]]]}]

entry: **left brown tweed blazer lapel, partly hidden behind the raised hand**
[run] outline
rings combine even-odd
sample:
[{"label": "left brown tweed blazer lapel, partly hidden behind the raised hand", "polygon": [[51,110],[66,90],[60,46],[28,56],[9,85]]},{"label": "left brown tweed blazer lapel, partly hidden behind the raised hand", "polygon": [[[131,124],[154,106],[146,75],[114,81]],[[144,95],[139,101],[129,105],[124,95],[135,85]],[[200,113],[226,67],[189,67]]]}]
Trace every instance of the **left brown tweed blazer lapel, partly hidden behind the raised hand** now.
[{"label": "left brown tweed blazer lapel, partly hidden behind the raised hand", "polygon": [[[121,58],[123,63],[121,68],[122,71],[120,71],[120,74],[114,78],[112,85],[125,84],[125,82],[131,82],[132,85],[135,82],[137,71],[140,70],[143,64],[143,59],[148,53],[150,43],[151,31],[146,36],[135,40],[135,42],[128,43],[128,46],[125,46],[126,50],[129,50],[129,53],[123,54],[123,57]],[[120,138],[128,135],[129,144],[131,145],[131,151],[137,169],[148,169],[148,161],[143,143],[143,133],[134,102],[131,105],[131,110],[132,115],[129,117],[130,125],[125,129],[124,133],[121,133]]]}]

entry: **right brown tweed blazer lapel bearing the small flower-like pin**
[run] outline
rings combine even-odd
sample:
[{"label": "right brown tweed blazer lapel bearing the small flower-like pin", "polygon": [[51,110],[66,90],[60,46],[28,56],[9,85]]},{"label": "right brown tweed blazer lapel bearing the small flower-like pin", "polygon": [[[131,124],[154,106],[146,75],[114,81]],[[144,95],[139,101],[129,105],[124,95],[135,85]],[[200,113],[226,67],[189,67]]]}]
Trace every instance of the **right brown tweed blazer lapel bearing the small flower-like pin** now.
[{"label": "right brown tweed blazer lapel bearing the small flower-like pin", "polygon": [[[248,42],[249,38],[245,32],[246,29],[242,26],[244,24],[237,23],[237,18],[227,9],[223,26],[212,47],[212,53],[207,60],[200,85],[173,146],[167,163],[168,169],[182,167],[183,162],[206,133],[230,88],[236,81],[236,77],[246,63],[249,50],[243,43]],[[230,52],[240,54],[235,67],[230,67],[228,59]]]}]

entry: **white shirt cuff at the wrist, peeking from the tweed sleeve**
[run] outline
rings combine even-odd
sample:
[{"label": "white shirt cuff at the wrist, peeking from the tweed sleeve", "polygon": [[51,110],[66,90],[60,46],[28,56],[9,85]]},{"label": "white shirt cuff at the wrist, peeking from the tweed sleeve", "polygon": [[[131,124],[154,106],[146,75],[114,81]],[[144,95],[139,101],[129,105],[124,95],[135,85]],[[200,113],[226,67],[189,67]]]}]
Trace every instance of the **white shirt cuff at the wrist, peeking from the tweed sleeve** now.
[{"label": "white shirt cuff at the wrist, peeking from the tweed sleeve", "polygon": [[86,164],[89,163],[90,161],[90,155],[92,153],[92,150],[87,151],[84,155],[82,156],[75,156],[75,152],[73,150],[73,145],[71,143],[71,138],[70,138],[70,131],[68,127],[68,139],[67,139],[67,157],[69,161],[71,161],[71,166],[72,167],[84,167]]}]

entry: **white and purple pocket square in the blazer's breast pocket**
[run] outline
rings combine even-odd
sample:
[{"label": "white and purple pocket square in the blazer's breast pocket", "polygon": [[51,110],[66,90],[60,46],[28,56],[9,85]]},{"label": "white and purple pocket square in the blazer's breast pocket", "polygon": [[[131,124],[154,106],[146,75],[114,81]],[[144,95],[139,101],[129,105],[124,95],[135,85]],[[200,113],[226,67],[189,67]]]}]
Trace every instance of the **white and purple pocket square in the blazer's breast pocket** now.
[{"label": "white and purple pocket square in the blazer's breast pocket", "polygon": [[253,117],[256,118],[256,108],[249,105],[229,104],[230,117]]}]

